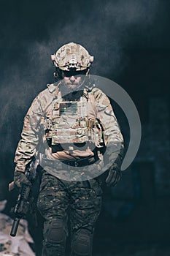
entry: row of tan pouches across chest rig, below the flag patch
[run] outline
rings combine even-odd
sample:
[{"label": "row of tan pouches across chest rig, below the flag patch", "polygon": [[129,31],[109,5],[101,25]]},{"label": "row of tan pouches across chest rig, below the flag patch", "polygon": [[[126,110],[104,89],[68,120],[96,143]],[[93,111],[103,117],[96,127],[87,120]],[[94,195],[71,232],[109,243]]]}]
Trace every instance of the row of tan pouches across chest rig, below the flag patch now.
[{"label": "row of tan pouches across chest rig, below the flag patch", "polygon": [[77,118],[73,124],[70,124],[71,121],[69,117],[65,118],[64,122],[56,119],[45,120],[45,137],[48,146],[59,146],[66,142],[77,145],[88,142],[98,148],[104,147],[103,127],[98,119]]}]

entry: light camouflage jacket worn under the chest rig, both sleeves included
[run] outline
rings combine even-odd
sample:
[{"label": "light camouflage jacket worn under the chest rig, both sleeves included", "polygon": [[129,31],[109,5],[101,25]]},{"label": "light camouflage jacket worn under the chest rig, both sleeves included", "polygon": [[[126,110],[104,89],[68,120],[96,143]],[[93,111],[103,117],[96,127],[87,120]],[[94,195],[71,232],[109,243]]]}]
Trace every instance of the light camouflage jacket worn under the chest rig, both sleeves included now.
[{"label": "light camouflage jacket worn under the chest rig, both sleeves included", "polygon": [[[67,150],[53,152],[47,146],[42,127],[45,120],[52,115],[54,100],[61,97],[59,86],[60,82],[47,85],[48,88],[38,94],[26,113],[21,139],[15,152],[15,171],[24,172],[26,165],[31,161],[31,157],[39,150],[39,145],[43,144],[46,145],[45,155],[47,159],[51,160],[73,160],[93,156],[93,151],[89,147],[85,148],[84,151],[76,148],[72,152]],[[123,157],[123,136],[108,97],[100,89],[94,87],[88,91],[88,104],[90,105],[88,118],[97,118],[102,124],[104,143],[107,148],[110,148],[107,161],[109,162],[112,159],[121,161]]]}]

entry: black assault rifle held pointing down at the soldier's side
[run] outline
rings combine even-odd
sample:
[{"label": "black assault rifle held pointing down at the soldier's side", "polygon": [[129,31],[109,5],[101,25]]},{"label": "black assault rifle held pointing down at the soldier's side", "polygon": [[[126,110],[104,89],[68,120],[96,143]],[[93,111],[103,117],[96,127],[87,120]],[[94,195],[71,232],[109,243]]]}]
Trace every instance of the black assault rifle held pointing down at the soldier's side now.
[{"label": "black assault rifle held pointing down at the soldier's side", "polygon": [[[31,181],[31,184],[34,184],[34,181],[36,180],[36,169],[39,165],[38,160],[33,158],[30,163],[28,163],[26,167],[26,177],[29,181]],[[14,188],[14,181],[12,181],[9,184],[9,191],[11,191]],[[15,214],[15,218],[12,224],[12,229],[10,232],[10,236],[16,236],[18,225],[20,223],[20,219],[23,219],[26,217],[26,214],[28,213],[28,210],[31,206],[31,203],[33,203],[34,198],[31,195],[31,187],[23,184],[23,186],[20,189],[20,194],[18,195],[18,199],[16,201],[15,207],[13,209],[13,213]]]}]

